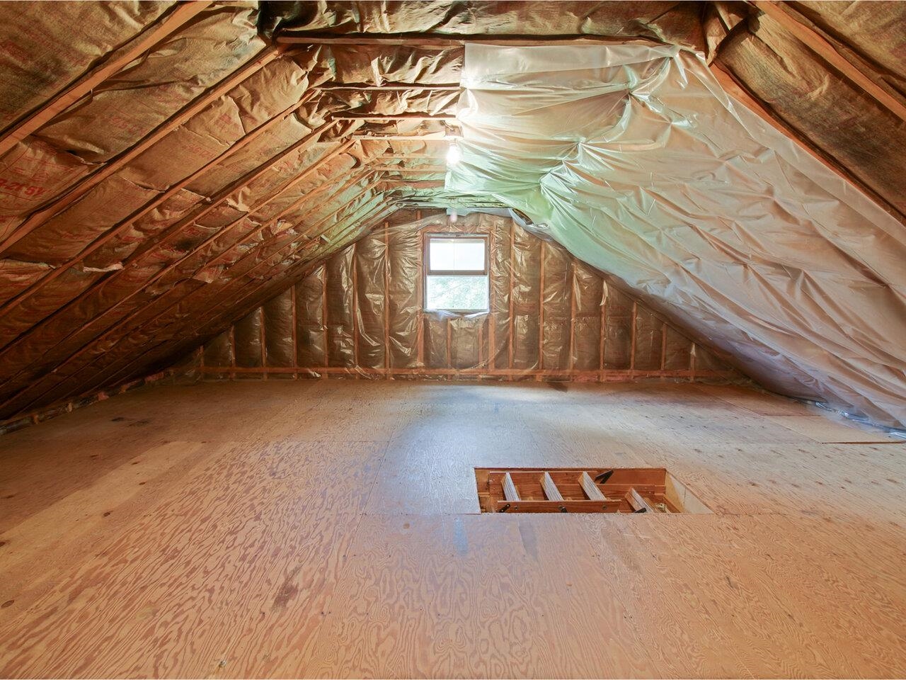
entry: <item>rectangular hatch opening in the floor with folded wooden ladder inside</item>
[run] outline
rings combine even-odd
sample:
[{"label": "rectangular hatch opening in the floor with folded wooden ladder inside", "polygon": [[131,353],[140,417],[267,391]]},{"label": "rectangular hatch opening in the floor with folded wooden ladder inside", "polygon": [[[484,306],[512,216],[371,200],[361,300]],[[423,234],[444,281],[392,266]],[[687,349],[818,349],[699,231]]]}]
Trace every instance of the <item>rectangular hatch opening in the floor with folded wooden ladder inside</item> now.
[{"label": "rectangular hatch opening in the floor with folded wooden ladder inside", "polygon": [[710,514],[664,468],[476,468],[482,512]]}]

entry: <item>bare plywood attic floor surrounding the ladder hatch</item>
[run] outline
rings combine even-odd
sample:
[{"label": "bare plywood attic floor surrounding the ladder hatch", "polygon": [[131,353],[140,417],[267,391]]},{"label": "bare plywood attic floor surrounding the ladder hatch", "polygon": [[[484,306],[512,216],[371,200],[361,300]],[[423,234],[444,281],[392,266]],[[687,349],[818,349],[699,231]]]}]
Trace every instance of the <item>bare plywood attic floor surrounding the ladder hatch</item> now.
[{"label": "bare plywood attic floor surrounding the ladder hatch", "polygon": [[[688,384],[116,397],[0,439],[0,675],[902,676],[906,444],[815,417]],[[477,514],[492,465],[663,466],[716,514]]]}]

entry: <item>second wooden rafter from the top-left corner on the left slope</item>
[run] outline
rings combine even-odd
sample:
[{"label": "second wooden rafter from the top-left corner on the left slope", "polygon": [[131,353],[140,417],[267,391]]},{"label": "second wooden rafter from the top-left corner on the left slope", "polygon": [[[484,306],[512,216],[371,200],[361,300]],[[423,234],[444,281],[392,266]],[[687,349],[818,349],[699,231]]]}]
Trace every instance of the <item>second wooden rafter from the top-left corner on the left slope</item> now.
[{"label": "second wooden rafter from the top-left corner on the left slope", "polygon": [[237,84],[242,83],[246,80],[246,78],[254,75],[262,68],[264,68],[265,65],[275,61],[275,59],[281,56],[281,53],[278,52],[274,47],[266,47],[265,50],[253,61],[246,63],[238,71],[234,72],[232,75],[226,77],[223,81],[217,84],[217,86],[206,90],[204,94],[198,97],[198,99],[189,102],[188,105],[183,107],[183,109],[178,112],[177,115],[162,122],[157,128],[151,131],[137,144],[131,146],[128,150],[123,151],[122,153],[120,153],[120,155],[103,164],[100,170],[97,170],[78,184],[75,184],[70,189],[67,189],[62,195],[58,196],[56,199],[53,199],[53,201],[43,209],[37,210],[32,213],[28,217],[28,219],[26,219],[21,225],[15,228],[14,232],[10,234],[5,239],[5,241],[0,243],[0,253],[3,253],[5,250],[22,240],[28,234],[32,233],[32,231],[43,224],[46,219],[50,219],[57,213],[62,212],[63,209],[66,209],[67,206],[71,205],[76,200],[81,199],[82,196],[98,186],[103,180],[106,180],[113,173],[123,168],[131,160],[134,160],[141,153],[147,151],[158,141],[166,137],[170,132],[176,130],[180,125],[189,121],[193,116],[195,116],[199,112],[202,112],[212,102],[217,101],[217,99],[226,94],[226,92],[229,92],[234,87],[236,87]]}]

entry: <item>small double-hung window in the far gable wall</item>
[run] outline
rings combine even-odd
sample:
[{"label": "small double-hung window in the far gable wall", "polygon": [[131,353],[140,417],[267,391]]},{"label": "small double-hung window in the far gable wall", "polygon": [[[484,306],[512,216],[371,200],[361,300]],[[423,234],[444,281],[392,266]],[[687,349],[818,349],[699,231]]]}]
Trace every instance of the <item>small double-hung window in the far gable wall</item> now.
[{"label": "small double-hung window in the far gable wall", "polygon": [[429,234],[425,238],[425,309],[487,312],[487,236]]}]

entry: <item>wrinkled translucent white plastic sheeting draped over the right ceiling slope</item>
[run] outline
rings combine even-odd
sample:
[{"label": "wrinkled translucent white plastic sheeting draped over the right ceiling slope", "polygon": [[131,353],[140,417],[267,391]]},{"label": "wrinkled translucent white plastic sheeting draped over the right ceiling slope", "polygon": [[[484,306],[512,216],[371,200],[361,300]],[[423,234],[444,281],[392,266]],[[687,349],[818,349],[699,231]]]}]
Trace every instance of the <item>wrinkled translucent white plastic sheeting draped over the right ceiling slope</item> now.
[{"label": "wrinkled translucent white plastic sheeting draped over the right ceiling slope", "polygon": [[462,84],[448,190],[545,224],[761,384],[906,423],[906,230],[700,55],[467,44]]}]

